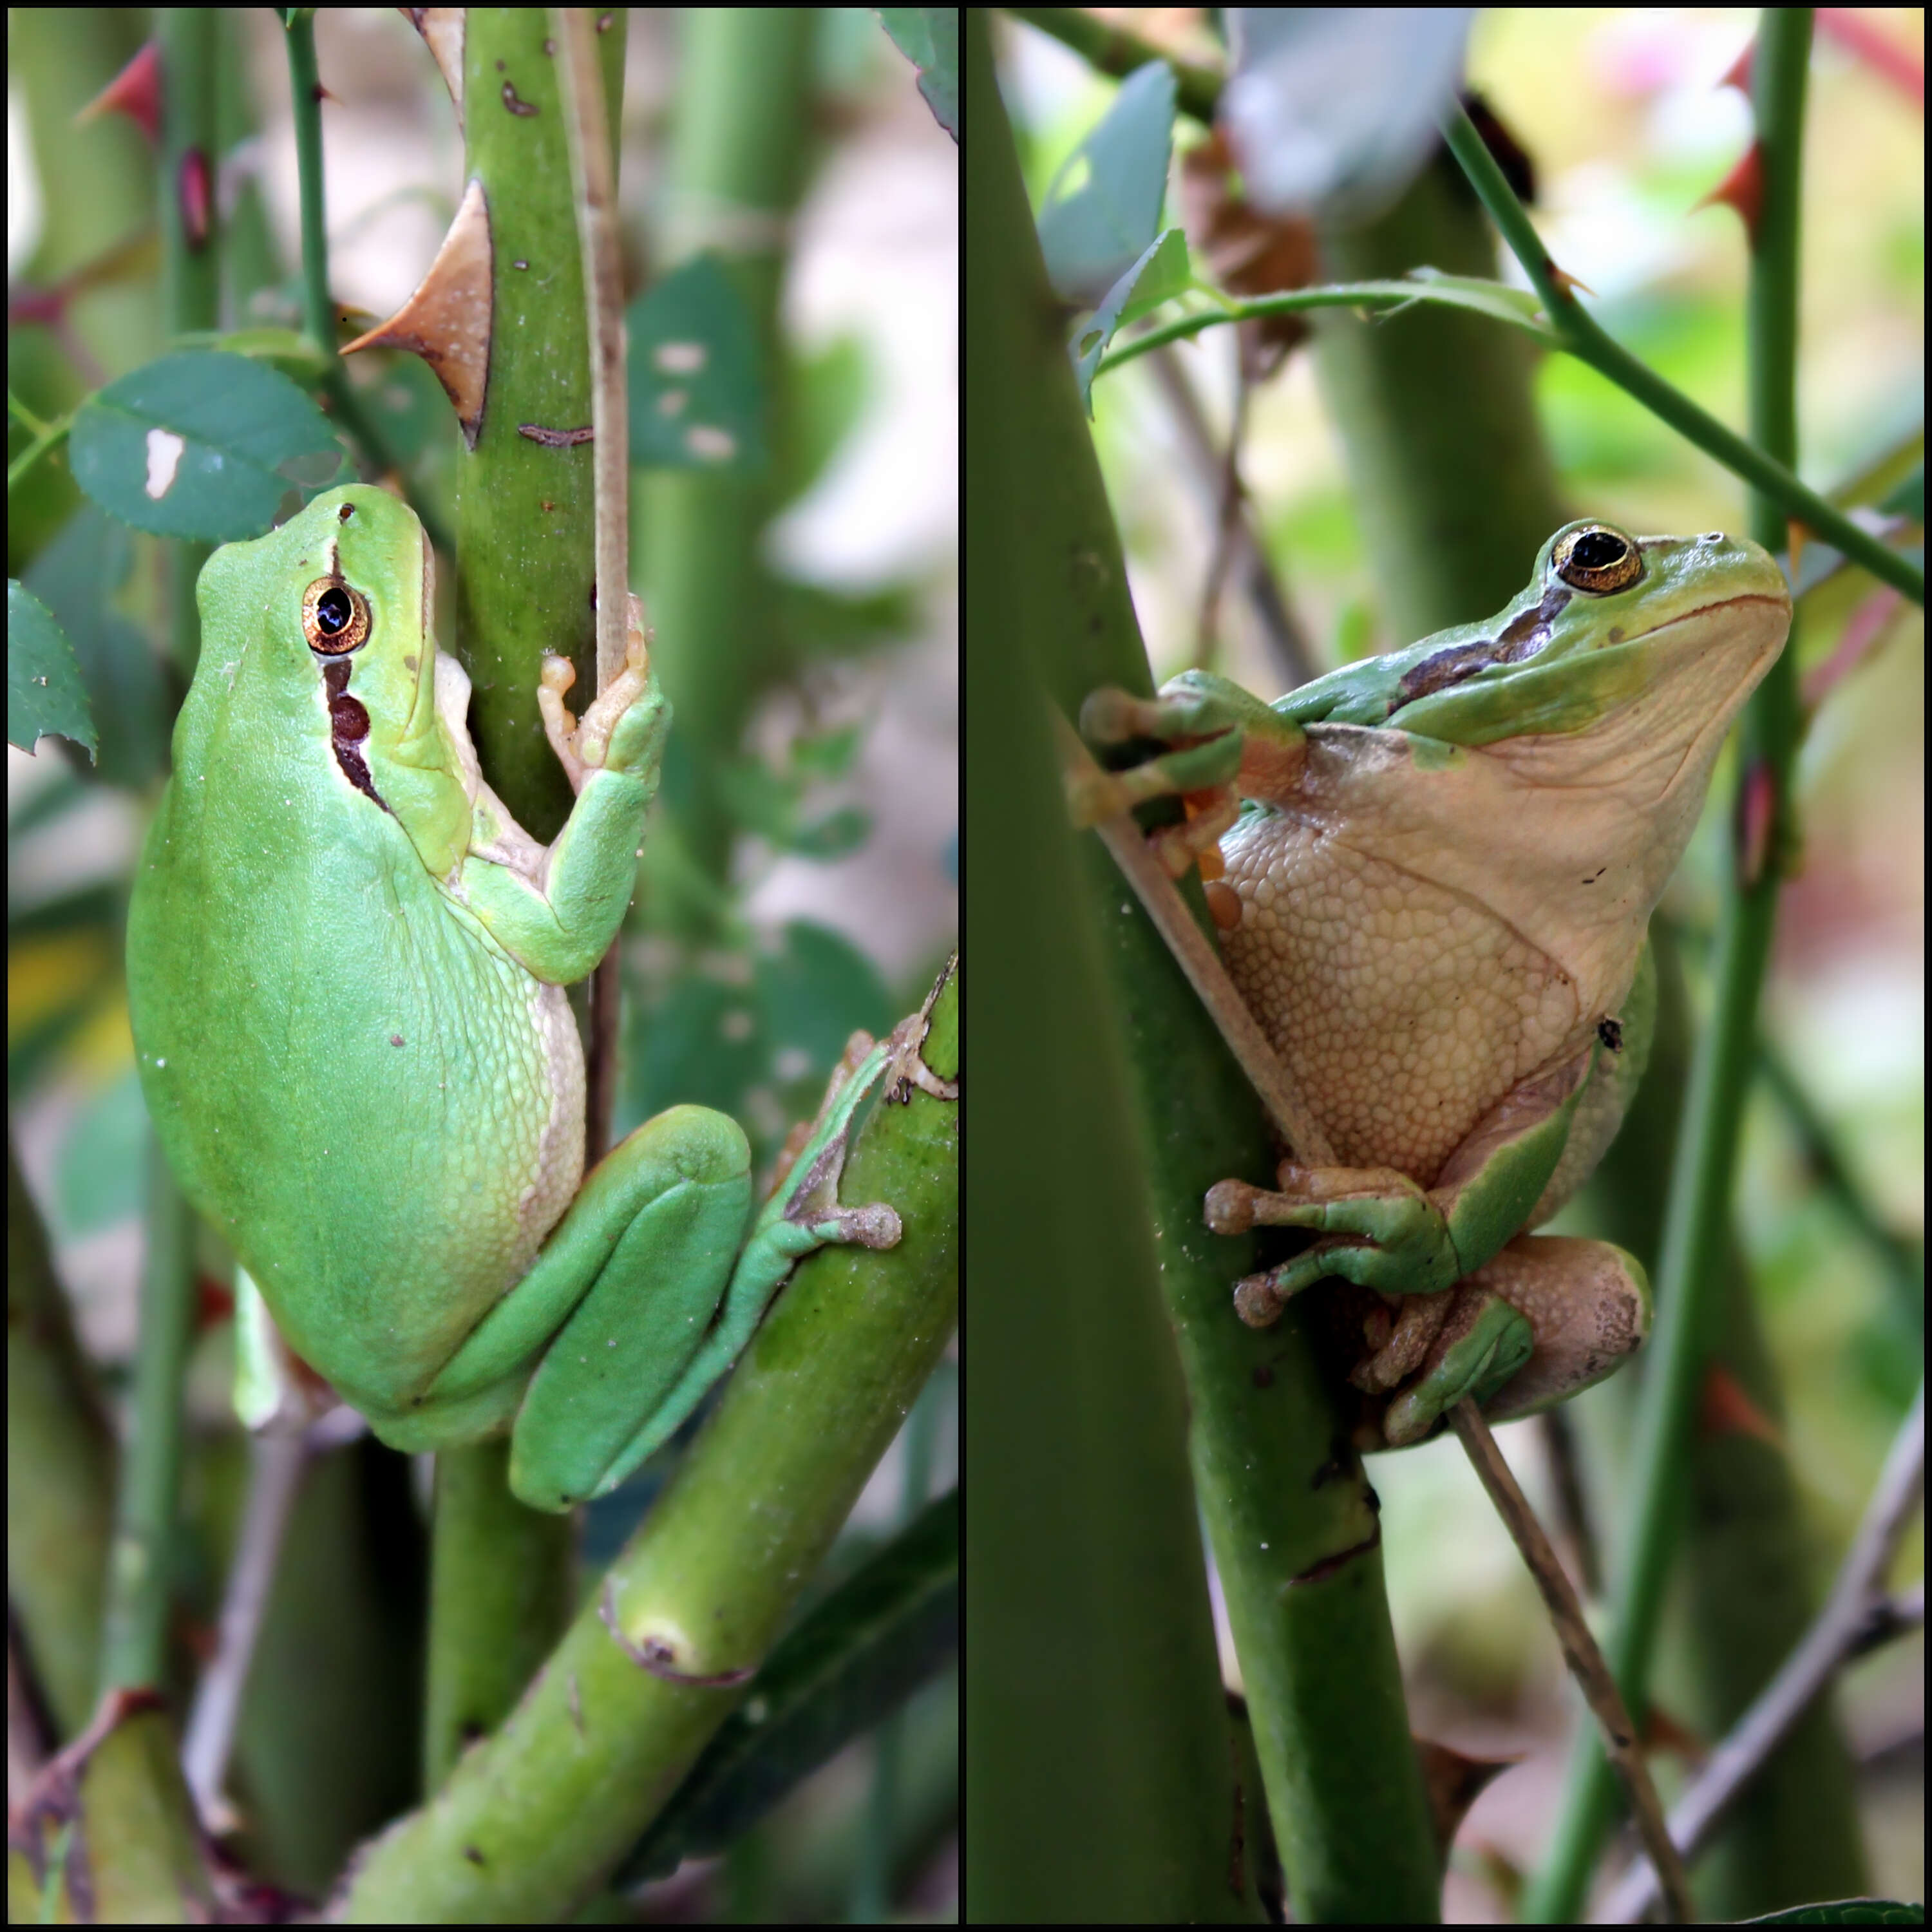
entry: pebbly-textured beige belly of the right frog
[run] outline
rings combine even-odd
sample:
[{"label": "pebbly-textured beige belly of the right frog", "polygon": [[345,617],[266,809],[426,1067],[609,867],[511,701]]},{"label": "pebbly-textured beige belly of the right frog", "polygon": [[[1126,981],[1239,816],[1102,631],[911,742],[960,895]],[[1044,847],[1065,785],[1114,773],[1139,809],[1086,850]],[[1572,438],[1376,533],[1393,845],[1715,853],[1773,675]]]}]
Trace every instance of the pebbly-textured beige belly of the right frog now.
[{"label": "pebbly-textured beige belly of the right frog", "polygon": [[1221,840],[1240,923],[1227,966],[1347,1167],[1426,1186],[1486,1113],[1586,1022],[1571,976],[1464,893],[1306,815]]}]

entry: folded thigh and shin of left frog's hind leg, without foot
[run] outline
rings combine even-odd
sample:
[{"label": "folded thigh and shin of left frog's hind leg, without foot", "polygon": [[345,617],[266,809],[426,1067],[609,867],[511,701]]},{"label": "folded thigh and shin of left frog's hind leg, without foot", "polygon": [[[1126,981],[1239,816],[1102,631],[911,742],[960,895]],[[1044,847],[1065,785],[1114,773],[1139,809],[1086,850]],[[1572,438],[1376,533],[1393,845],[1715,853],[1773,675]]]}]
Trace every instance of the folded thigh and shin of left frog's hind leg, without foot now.
[{"label": "folded thigh and shin of left frog's hind leg, without foot", "polygon": [[531,1294],[539,1333],[556,1329],[516,1418],[518,1495],[568,1509],[639,1459],[639,1424],[711,1329],[750,1209],[752,1150],[709,1107],[672,1107],[597,1163],[514,1296]]}]

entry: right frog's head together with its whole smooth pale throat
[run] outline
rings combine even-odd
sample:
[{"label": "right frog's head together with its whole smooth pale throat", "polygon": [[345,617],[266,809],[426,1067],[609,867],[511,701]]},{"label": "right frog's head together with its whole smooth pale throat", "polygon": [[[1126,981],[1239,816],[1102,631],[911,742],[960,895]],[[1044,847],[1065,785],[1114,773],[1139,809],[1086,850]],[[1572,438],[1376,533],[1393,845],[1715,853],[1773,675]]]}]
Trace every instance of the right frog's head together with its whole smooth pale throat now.
[{"label": "right frog's head together with its whole smooth pale throat", "polygon": [[1783,574],[1743,537],[1569,524],[1488,622],[1352,667],[1347,701],[1318,696],[1327,680],[1294,697],[1323,724],[1403,734],[1406,759],[1362,761],[1374,796],[1352,808],[1381,850],[1507,904],[1553,956],[1588,933],[1627,980],[1789,624]]}]

